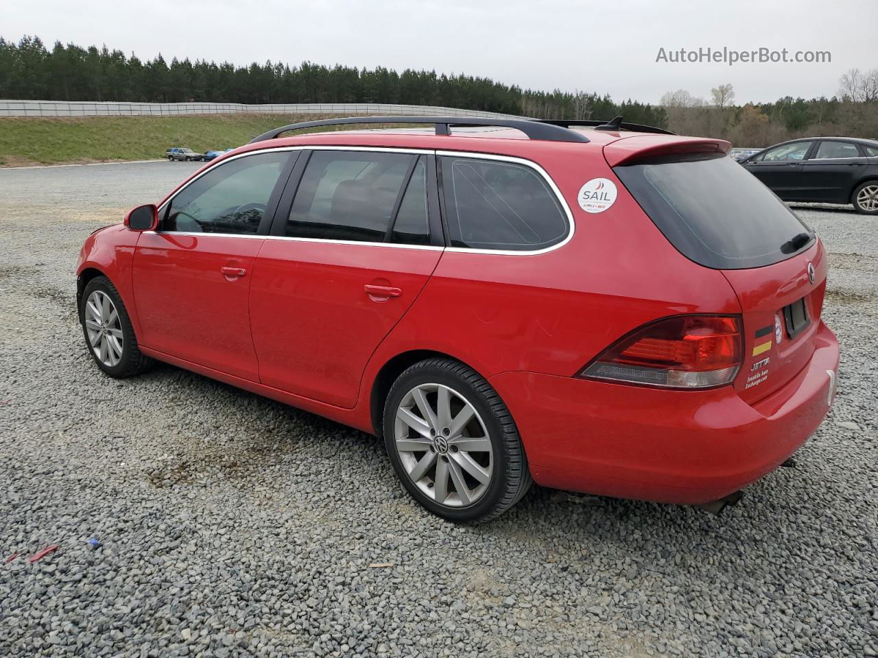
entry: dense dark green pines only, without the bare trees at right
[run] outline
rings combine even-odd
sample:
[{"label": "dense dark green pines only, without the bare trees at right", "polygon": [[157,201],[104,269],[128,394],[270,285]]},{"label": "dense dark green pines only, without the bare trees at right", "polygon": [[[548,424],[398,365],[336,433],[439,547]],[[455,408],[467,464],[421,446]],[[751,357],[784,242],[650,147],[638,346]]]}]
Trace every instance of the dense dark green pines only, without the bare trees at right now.
[{"label": "dense dark green pines only, without the bare trees at right", "polygon": [[382,103],[440,105],[539,118],[609,119],[624,113],[636,123],[664,125],[661,108],[636,101],[614,103],[583,92],[535,91],[472,75],[407,68],[299,66],[267,61],[238,67],[229,62],[166,61],[126,56],[106,46],[48,50],[37,37],[18,43],[0,38],[0,98],[147,103],[287,104]]}]

